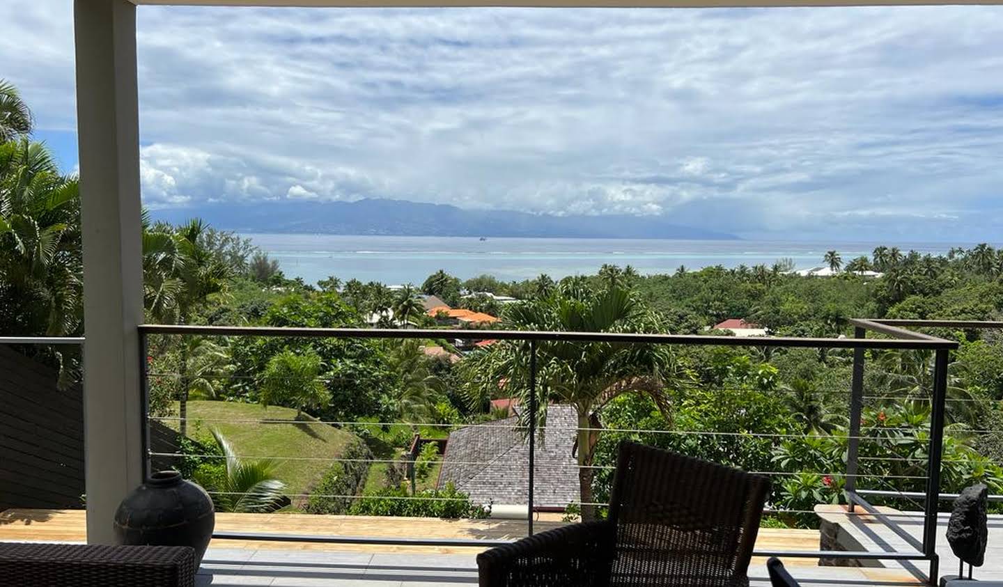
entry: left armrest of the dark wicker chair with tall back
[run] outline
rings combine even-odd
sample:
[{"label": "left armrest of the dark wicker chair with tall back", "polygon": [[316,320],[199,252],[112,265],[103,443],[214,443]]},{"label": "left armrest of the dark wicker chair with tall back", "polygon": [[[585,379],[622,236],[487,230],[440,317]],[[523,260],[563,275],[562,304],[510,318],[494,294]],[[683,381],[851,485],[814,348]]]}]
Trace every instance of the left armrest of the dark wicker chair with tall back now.
[{"label": "left armrest of the dark wicker chair with tall back", "polygon": [[614,528],[586,522],[541,532],[477,555],[480,587],[590,587],[609,578]]}]

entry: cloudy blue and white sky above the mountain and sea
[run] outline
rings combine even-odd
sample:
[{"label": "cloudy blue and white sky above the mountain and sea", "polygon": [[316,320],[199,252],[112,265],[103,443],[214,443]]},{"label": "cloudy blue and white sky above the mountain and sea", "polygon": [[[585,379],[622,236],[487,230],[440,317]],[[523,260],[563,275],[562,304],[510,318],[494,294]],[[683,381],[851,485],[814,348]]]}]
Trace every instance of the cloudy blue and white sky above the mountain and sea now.
[{"label": "cloudy blue and white sky above the mountain and sea", "polygon": [[[393,198],[1003,241],[1003,6],[137,9],[150,208]],[[76,169],[72,2],[0,77]]]}]

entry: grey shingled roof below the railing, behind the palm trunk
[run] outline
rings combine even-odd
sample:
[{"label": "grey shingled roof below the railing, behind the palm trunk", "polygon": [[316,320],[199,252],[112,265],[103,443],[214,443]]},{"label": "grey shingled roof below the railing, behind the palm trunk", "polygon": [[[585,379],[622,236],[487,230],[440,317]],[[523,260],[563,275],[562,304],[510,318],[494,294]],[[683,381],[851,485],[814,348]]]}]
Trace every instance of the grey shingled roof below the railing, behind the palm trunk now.
[{"label": "grey shingled roof below the railing, behind the palm trunk", "polygon": [[[519,418],[464,426],[449,434],[439,487],[452,483],[478,504],[528,502],[530,444]],[[575,407],[550,405],[534,460],[534,505],[565,507],[580,500],[578,464],[572,455],[578,425]]]}]

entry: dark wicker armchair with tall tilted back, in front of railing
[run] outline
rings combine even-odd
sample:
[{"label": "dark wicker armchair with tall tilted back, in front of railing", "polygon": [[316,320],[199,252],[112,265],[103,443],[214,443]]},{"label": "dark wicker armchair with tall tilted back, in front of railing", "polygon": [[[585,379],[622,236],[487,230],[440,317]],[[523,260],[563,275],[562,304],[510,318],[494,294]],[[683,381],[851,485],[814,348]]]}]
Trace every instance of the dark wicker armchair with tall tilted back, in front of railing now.
[{"label": "dark wicker armchair with tall tilted back, in front of railing", "polygon": [[477,556],[480,587],[737,587],[759,530],[762,476],[623,443],[609,518]]}]

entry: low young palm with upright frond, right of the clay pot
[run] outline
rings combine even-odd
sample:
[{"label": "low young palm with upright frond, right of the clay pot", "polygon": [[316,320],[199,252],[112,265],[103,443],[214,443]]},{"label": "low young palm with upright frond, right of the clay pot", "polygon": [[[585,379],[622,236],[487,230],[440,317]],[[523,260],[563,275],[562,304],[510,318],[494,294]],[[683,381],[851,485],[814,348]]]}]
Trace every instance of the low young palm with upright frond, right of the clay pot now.
[{"label": "low young palm with upright frond, right of the clay pot", "polygon": [[213,505],[219,512],[273,512],[282,506],[286,484],[275,477],[278,463],[271,459],[246,460],[237,457],[220,430],[213,438],[226,458],[226,475],[218,480],[200,480],[209,485]]}]

